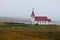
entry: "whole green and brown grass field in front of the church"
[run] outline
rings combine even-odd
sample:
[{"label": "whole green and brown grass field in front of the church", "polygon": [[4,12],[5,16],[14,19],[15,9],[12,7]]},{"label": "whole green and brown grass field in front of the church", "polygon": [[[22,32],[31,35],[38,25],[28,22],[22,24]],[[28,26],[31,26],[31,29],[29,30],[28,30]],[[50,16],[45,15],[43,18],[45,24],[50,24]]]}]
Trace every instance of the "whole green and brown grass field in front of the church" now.
[{"label": "whole green and brown grass field in front of the church", "polygon": [[59,25],[1,26],[0,40],[60,40]]}]

